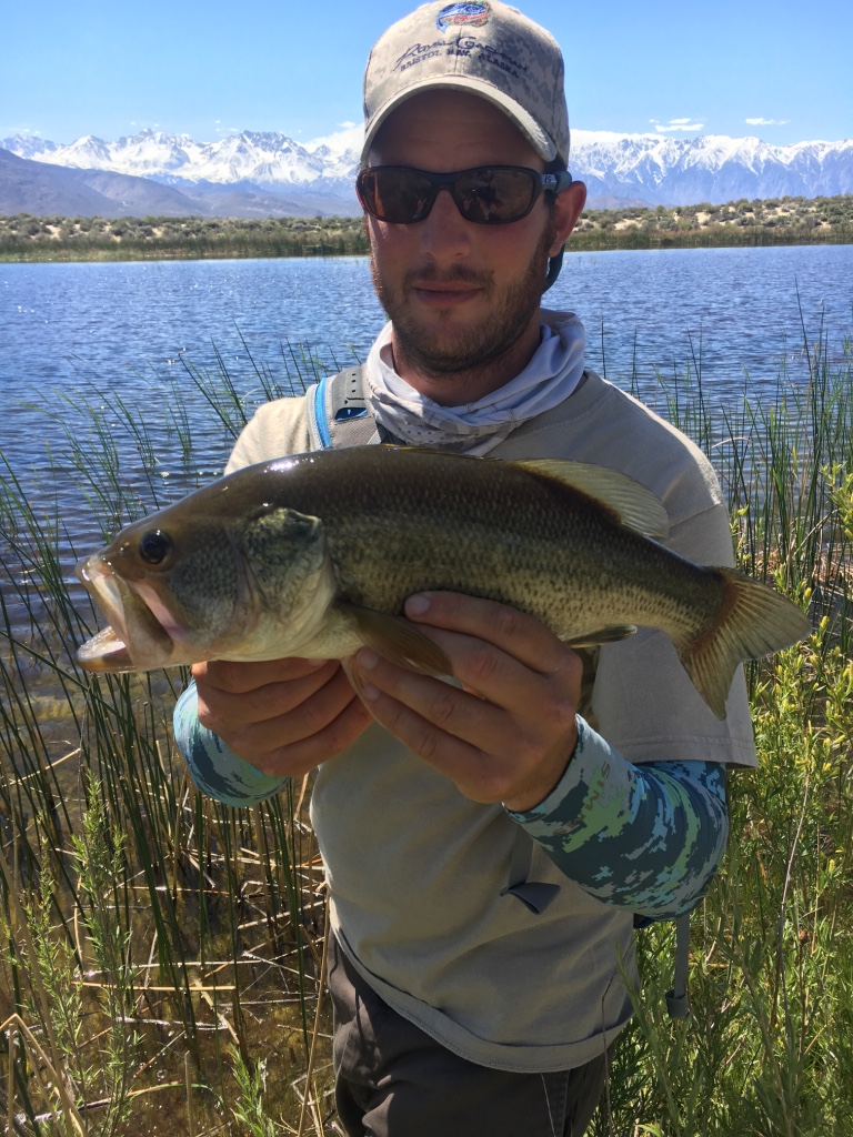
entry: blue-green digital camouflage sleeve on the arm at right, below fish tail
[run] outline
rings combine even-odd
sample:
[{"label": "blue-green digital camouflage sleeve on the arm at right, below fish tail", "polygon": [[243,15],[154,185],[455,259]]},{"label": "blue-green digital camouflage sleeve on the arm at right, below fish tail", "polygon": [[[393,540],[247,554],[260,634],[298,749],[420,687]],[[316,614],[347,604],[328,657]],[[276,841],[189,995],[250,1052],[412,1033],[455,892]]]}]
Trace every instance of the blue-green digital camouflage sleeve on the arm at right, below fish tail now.
[{"label": "blue-green digital camouflage sleeve on the arm at right, below fish tail", "polygon": [[659,920],[689,912],[726,849],[724,765],[633,765],[582,719],[578,724],[578,747],[560,783],[535,808],[510,816],[561,872],[606,904]]}]

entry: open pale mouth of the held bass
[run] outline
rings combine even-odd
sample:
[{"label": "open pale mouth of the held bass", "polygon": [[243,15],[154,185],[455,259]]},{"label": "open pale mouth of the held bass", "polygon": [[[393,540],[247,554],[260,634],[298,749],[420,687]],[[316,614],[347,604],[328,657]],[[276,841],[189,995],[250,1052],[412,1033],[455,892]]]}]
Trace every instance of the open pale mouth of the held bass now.
[{"label": "open pale mouth of the held bass", "polygon": [[80,561],[75,573],[109,621],[108,628],[77,648],[81,667],[117,673],[168,667],[175,662],[172,636],[142,597],[99,554]]}]

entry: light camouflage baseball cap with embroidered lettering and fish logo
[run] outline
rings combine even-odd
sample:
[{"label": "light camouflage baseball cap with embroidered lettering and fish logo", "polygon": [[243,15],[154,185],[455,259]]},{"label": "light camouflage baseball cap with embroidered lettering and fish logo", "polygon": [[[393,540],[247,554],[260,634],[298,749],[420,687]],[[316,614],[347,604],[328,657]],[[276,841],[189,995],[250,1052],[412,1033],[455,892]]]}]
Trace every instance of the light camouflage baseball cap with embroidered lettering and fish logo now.
[{"label": "light camouflage baseball cap with embroidered lettering and fish logo", "polygon": [[488,99],[546,161],[569,161],[563,56],[544,27],[500,0],[433,0],[392,24],[364,73],[364,148],[392,110],[421,91]]}]

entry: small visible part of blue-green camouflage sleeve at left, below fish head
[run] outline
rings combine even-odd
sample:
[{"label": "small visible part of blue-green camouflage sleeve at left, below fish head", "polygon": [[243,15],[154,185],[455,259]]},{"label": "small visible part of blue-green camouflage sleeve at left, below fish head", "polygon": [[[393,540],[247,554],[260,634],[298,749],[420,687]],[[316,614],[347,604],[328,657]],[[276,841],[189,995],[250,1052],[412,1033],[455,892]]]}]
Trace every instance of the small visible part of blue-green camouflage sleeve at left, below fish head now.
[{"label": "small visible part of blue-green camouflage sleeve at left, below fish head", "polygon": [[278,792],[287,778],[271,778],[229,749],[222,739],[198,721],[196,684],[179,698],[173,716],[175,742],[202,794],[225,805],[257,805]]}]

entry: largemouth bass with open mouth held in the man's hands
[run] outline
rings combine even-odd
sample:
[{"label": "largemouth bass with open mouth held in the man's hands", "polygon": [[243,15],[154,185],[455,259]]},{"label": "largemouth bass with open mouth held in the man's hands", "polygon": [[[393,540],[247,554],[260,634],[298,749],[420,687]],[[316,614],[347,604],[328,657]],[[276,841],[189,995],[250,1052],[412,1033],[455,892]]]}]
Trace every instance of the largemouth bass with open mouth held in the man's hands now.
[{"label": "largemouth bass with open mouth held in the man's hands", "polygon": [[615,471],[370,446],[249,466],[124,529],[77,575],[110,626],[96,672],[204,659],[345,658],[370,645],[446,674],[401,619],[448,589],[513,605],[579,647],[663,630],[719,717],[738,664],[808,634],[767,584],[654,538],[661,503]]}]

